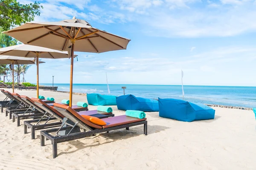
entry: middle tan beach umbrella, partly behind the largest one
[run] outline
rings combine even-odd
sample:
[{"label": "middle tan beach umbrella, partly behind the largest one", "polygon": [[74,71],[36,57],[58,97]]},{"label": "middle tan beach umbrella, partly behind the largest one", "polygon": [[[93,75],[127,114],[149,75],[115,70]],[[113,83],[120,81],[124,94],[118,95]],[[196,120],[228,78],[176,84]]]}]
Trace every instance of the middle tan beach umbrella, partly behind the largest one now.
[{"label": "middle tan beach umbrella, partly behind the largest one", "polygon": [[[8,56],[20,56],[20,57],[36,57],[37,62],[37,98],[39,96],[39,65],[38,58],[50,58],[50,59],[59,59],[59,58],[69,58],[67,51],[58,51],[50,48],[38,47],[34,45],[13,45],[5,48],[0,48],[0,55]],[[75,57],[77,55],[74,55]]]}]

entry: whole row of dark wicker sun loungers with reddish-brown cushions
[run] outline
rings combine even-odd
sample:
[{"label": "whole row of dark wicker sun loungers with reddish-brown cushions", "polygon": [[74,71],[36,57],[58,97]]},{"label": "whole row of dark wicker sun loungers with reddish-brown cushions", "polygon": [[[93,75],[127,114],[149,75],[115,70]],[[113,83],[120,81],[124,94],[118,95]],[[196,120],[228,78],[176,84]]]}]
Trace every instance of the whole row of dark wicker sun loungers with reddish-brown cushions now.
[{"label": "whole row of dark wicker sun loungers with reddish-brown cushions", "polygon": [[[13,122],[17,119],[17,126],[20,125],[20,119],[28,119],[23,122],[24,133],[31,129],[32,139],[35,139],[35,131],[41,130],[41,146],[44,146],[45,138],[49,139],[52,142],[53,158],[58,155],[57,144],[60,142],[122,128],[129,130],[129,127],[136,125],[144,125],[144,134],[147,135],[146,118],[114,116],[112,112],[88,111],[88,108],[80,108],[77,105],[69,107],[67,104],[50,103],[47,100],[11,94],[4,90],[1,92],[6,95],[2,106],[0,102],[1,108],[6,108],[6,116],[9,114]],[[99,120],[104,123],[99,124]]]}]

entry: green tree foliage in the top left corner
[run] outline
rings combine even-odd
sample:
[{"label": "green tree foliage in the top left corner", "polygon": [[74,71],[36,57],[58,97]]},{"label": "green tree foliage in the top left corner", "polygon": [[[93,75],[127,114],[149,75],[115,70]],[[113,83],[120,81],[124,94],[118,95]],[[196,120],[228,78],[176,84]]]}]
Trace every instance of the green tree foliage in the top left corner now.
[{"label": "green tree foliage in the top left corner", "polygon": [[8,30],[34,20],[40,15],[40,3],[20,4],[17,0],[0,0],[0,27]]}]

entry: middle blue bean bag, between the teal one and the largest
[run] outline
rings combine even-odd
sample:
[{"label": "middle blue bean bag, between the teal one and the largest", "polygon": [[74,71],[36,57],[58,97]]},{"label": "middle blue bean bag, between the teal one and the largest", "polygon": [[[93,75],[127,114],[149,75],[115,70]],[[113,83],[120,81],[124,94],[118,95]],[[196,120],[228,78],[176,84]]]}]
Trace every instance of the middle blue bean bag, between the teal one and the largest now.
[{"label": "middle blue bean bag, between the teal one and the largest", "polygon": [[135,110],[135,111],[159,111],[158,101],[154,99],[146,99],[142,97],[135,97],[128,94],[116,98],[116,105],[119,110]]}]

